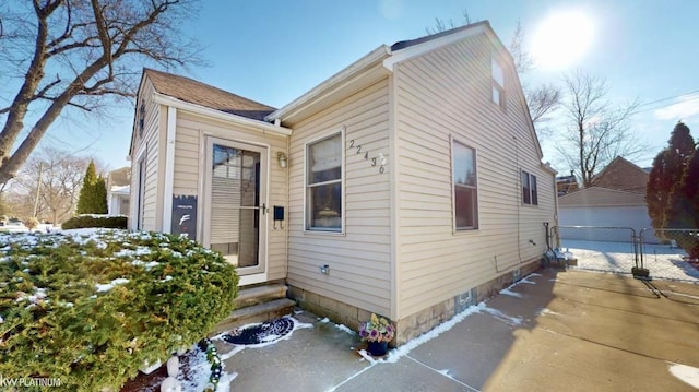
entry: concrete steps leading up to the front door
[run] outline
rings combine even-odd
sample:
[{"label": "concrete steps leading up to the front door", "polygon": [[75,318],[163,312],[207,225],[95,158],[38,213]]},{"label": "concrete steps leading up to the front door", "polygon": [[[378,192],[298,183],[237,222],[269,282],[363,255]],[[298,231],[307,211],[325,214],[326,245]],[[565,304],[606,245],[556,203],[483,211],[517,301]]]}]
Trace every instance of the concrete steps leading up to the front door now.
[{"label": "concrete steps leading up to the front door", "polygon": [[216,325],[213,334],[291,314],[296,306],[286,298],[286,286],[281,284],[241,288],[235,304],[235,310]]}]

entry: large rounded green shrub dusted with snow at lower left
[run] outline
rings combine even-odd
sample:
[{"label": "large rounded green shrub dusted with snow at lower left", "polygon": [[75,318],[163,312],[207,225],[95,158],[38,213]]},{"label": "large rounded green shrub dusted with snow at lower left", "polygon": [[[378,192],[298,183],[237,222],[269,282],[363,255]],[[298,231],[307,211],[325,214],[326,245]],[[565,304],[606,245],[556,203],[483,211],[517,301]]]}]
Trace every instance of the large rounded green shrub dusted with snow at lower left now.
[{"label": "large rounded green shrub dusted with snow at lower left", "polygon": [[0,375],[118,390],[233,310],[238,276],[182,237],[126,230],[0,235]]}]

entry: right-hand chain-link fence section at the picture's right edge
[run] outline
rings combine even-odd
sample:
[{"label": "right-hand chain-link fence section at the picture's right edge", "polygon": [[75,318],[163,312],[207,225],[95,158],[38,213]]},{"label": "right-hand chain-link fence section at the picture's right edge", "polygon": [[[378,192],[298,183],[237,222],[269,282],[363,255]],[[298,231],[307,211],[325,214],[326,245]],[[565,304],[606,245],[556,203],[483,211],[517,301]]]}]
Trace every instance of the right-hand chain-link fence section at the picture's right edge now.
[{"label": "right-hand chain-link fence section at the picture's right edge", "polygon": [[651,277],[699,283],[699,229],[644,228],[639,237],[639,266]]}]

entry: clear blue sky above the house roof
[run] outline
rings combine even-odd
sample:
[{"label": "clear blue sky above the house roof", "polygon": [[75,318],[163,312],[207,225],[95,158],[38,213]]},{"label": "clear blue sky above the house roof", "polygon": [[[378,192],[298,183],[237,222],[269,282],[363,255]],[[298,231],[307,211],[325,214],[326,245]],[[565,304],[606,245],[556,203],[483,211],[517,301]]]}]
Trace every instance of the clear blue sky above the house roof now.
[{"label": "clear blue sky above the house roof", "polygon": [[[506,44],[520,20],[526,48],[536,44],[548,16],[570,10],[584,14],[592,36],[584,50],[577,50],[574,64],[540,66],[523,81],[560,84],[564,72],[580,69],[606,78],[614,103],[638,98],[642,106],[632,121],[635,138],[653,147],[637,164],[650,166],[678,119],[699,135],[699,94],[680,96],[699,91],[699,1],[204,0],[199,17],[183,28],[206,47],[203,56],[211,67],[186,75],[281,107],[379,45],[425,35],[435,17],[461,24],[464,10],[473,21],[489,20]],[[643,105],[659,99],[664,100]],[[49,134],[117,168],[128,165],[132,114],[122,103],[99,122],[71,122],[72,134],[83,128],[82,136],[62,138],[66,122]],[[542,144],[544,161],[556,164],[555,140]]]}]

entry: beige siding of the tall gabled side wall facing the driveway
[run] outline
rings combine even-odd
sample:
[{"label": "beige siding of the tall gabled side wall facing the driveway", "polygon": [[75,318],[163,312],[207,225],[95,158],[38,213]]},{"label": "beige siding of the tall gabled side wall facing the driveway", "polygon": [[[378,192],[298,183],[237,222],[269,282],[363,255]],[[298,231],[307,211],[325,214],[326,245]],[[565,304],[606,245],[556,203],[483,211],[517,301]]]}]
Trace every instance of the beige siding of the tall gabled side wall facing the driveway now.
[{"label": "beige siding of the tall gabled side wall facing the driveway", "polygon": [[[493,50],[479,35],[395,68],[399,318],[510,272],[545,250],[543,223],[553,222],[555,210],[553,175],[541,166],[505,57],[506,107],[491,100]],[[476,150],[475,230],[453,230],[451,138]],[[520,169],[536,176],[538,206],[522,205]]]}]

